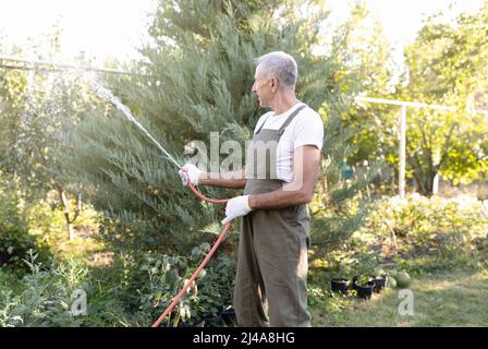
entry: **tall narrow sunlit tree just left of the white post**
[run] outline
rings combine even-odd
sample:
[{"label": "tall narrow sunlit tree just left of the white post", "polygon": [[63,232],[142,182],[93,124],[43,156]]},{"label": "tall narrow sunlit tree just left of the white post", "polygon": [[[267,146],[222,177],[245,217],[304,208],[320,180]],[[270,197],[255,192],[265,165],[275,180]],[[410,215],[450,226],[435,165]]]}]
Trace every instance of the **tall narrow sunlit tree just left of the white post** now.
[{"label": "tall narrow sunlit tree just left of the white post", "polygon": [[[392,93],[393,72],[392,48],[385,36],[382,25],[371,15],[364,1],[356,1],[347,21],[334,36],[333,52],[342,62],[333,73],[333,80],[342,92],[351,97],[366,95],[383,98]],[[350,165],[363,160],[386,159],[390,124],[382,116],[388,107],[368,105],[363,108],[350,104],[343,113],[343,127],[352,131]]]}]

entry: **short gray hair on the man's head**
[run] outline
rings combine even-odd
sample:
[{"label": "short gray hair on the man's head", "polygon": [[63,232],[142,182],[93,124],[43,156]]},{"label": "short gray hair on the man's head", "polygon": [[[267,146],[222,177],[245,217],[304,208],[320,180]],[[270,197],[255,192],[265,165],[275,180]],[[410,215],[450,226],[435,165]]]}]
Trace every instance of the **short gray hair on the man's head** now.
[{"label": "short gray hair on the man's head", "polygon": [[283,51],[269,52],[256,60],[256,67],[260,67],[268,79],[274,76],[286,87],[295,88],[298,68],[290,55]]}]

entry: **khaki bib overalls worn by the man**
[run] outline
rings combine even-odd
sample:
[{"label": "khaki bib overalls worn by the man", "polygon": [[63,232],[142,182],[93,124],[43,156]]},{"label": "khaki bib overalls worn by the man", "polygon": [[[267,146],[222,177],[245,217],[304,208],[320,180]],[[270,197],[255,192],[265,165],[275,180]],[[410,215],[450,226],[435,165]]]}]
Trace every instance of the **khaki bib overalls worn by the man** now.
[{"label": "khaki bib overalls worn by the man", "polygon": [[[290,115],[280,130],[261,130],[261,125],[253,143],[264,141],[259,143],[268,146],[267,151],[276,152],[276,146],[270,148],[269,144],[278,144],[284,129],[304,107]],[[254,165],[255,169],[259,166]],[[251,178],[253,176],[247,173],[244,194],[281,189],[284,182],[269,176],[270,169],[274,168],[276,160],[269,161],[266,179]],[[243,217],[234,289],[240,326],[310,326],[306,284],[308,246],[309,215],[306,205],[253,210]]]}]

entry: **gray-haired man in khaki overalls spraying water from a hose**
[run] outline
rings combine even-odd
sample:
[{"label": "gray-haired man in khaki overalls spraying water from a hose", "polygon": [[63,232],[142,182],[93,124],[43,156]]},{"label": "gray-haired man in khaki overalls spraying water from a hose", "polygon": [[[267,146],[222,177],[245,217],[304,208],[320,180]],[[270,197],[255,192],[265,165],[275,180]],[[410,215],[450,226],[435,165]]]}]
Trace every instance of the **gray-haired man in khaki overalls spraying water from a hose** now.
[{"label": "gray-haired man in khaki overalls spraying water from a hose", "polygon": [[234,289],[241,326],[310,326],[306,204],[314,196],[324,124],[296,98],[296,79],[290,55],[260,57],[252,92],[271,111],[256,124],[245,169],[215,176],[187,164],[180,171],[184,183],[244,188],[244,195],[228,202],[222,221],[243,217]]}]

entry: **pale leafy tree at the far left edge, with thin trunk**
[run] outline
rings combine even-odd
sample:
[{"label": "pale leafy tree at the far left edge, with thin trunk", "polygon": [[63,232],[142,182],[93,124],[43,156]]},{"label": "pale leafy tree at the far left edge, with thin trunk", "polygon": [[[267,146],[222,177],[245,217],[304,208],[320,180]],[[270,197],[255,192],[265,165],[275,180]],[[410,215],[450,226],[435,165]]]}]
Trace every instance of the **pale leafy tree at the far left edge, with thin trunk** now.
[{"label": "pale leafy tree at the far left edge, with thin trunk", "polygon": [[[37,52],[38,59],[49,60],[59,53],[59,31],[46,35],[45,47],[50,51]],[[22,56],[22,52],[16,50],[11,55]],[[0,171],[16,184],[15,191],[10,190],[21,195],[26,207],[45,200],[54,190],[71,239],[72,225],[82,208],[80,190],[62,176],[63,166],[70,165],[61,165],[56,154],[62,152],[60,135],[94,108],[91,89],[83,86],[76,75],[57,72],[52,67],[9,64],[0,68]]]}]

